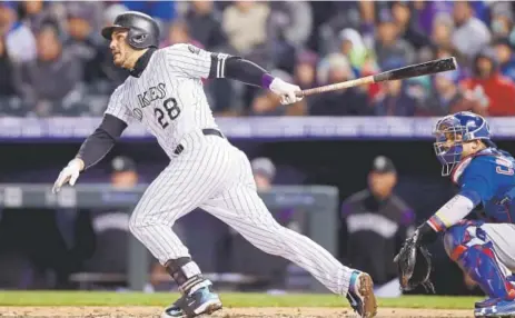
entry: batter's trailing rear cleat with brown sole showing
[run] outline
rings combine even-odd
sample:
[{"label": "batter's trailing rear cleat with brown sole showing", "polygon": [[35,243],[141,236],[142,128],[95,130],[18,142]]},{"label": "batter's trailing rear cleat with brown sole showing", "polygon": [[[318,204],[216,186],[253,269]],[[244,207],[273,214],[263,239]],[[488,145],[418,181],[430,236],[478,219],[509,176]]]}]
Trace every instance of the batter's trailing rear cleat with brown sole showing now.
[{"label": "batter's trailing rear cleat with brown sole showing", "polygon": [[369,318],[377,315],[374,282],[368,274],[355,270],[350,275],[347,299],[350,302],[350,307],[353,307],[354,311],[360,317]]}]

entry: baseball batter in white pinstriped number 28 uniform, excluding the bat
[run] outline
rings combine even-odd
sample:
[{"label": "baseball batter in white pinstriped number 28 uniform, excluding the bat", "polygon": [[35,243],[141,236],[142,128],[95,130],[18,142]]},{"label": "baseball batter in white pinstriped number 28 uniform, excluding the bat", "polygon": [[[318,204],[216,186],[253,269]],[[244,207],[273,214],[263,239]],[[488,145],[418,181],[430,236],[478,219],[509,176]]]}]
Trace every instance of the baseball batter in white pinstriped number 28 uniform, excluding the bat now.
[{"label": "baseball batter in white pinstriped number 28 uniform, excluding the bat", "polygon": [[171,229],[198,207],[265,252],[297,264],[330,291],[345,295],[362,317],[374,317],[377,306],[369,275],[343,266],[309,238],[275,221],[256,192],[246,155],[218,129],[201,79],[228,78],[263,87],[279,95],[285,105],[299,100],[299,87],[239,57],[191,44],[158,49],[158,24],[140,12],[118,16],[102,36],[110,40],[115,64],[129,70],[130,77],[115,90],[102,122],[62,169],[53,190],[67,182],[73,186],[131,122],[141,122],[157,138],[170,163],[145,191],[129,227],[182,294],[162,317],[197,317],[221,308],[211,282]]}]

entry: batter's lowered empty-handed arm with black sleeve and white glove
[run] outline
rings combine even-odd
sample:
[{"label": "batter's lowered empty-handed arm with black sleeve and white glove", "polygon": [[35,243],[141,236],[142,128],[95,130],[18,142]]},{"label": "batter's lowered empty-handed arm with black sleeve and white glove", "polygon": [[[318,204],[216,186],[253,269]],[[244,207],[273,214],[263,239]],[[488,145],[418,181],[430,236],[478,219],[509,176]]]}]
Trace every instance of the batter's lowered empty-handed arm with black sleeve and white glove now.
[{"label": "batter's lowered empty-handed arm with black sleeve and white glove", "polygon": [[121,87],[112,93],[102,122],[80,147],[77,156],[61,170],[53,183],[58,192],[67,182],[73,186],[81,171],[99,162],[115,146],[118,138],[130,123],[130,112],[121,102]]}]

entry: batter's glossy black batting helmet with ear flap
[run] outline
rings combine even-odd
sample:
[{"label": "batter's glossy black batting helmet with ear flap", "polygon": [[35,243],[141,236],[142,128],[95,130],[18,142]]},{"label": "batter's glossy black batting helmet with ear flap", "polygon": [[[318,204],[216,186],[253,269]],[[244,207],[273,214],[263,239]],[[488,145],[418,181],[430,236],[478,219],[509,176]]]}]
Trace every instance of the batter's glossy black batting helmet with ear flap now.
[{"label": "batter's glossy black batting helmet with ear flap", "polygon": [[102,37],[111,40],[112,32],[128,31],[127,42],[135,49],[159,47],[159,26],[150,16],[137,11],[127,11],[115,19],[115,23],[102,29]]}]

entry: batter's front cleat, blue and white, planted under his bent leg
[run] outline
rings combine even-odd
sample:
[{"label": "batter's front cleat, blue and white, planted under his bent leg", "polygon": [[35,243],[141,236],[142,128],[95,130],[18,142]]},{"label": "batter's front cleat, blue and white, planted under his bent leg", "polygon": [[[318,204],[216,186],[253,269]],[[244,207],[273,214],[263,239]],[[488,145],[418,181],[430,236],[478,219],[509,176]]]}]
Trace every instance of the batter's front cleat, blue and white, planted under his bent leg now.
[{"label": "batter's front cleat, blue and white, planted under his bent leg", "polygon": [[192,318],[211,315],[221,309],[221,300],[211,290],[211,286],[202,287],[191,295],[184,295],[161,314],[161,318]]}]

